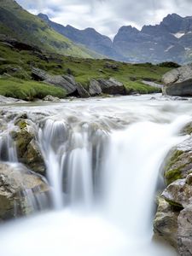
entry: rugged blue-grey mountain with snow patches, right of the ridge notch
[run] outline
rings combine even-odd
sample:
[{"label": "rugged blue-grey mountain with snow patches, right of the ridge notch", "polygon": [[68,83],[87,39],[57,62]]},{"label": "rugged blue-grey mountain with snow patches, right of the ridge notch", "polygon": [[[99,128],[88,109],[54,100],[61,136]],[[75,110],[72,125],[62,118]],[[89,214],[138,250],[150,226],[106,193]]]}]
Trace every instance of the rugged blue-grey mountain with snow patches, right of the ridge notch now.
[{"label": "rugged blue-grey mountain with snow patches, right of the ridge notch", "polygon": [[192,61],[192,17],[167,15],[160,25],[143,26],[141,31],[123,26],[113,39],[113,47],[127,61]]}]

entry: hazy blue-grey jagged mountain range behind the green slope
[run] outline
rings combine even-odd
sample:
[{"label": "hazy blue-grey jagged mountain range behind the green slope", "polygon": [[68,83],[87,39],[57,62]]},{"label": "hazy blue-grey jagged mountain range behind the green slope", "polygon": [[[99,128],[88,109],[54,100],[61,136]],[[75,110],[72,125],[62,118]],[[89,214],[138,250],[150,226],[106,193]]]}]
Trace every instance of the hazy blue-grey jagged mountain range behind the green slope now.
[{"label": "hazy blue-grey jagged mountain range behind the green slope", "polygon": [[38,17],[74,43],[117,61],[192,61],[192,16],[167,15],[160,25],[143,26],[141,31],[122,26],[113,41],[93,28],[79,30],[57,24],[44,14]]}]

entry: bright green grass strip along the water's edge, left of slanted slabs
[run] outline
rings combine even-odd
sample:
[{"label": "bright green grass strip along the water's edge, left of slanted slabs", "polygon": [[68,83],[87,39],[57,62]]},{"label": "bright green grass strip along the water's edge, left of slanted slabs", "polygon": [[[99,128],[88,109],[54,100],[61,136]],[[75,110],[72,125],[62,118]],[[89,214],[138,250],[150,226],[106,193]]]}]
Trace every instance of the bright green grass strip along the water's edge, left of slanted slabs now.
[{"label": "bright green grass strip along the water's edge, left of slanted slabs", "polygon": [[11,78],[0,79],[0,95],[32,101],[47,95],[63,98],[66,96],[66,91],[48,84]]}]

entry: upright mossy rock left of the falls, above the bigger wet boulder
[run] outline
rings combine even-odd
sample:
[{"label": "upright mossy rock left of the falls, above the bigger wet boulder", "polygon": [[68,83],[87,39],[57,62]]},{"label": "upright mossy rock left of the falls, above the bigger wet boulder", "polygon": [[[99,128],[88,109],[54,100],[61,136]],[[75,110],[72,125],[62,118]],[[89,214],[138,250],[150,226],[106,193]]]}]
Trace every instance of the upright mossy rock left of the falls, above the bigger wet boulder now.
[{"label": "upright mossy rock left of the falls, above the bigger wet boulder", "polygon": [[17,156],[20,163],[26,165],[33,172],[45,175],[44,158],[36,141],[36,131],[28,119],[19,119],[15,125],[17,131],[11,133],[15,142]]}]

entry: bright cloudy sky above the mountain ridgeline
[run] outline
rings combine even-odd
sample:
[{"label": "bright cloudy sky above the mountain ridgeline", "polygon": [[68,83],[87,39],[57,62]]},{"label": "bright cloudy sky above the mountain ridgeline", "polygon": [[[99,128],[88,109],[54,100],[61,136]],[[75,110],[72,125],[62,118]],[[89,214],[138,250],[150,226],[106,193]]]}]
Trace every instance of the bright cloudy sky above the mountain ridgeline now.
[{"label": "bright cloudy sky above the mountain ridgeline", "polygon": [[33,14],[79,29],[94,27],[113,38],[120,26],[157,24],[168,14],[192,15],[192,0],[17,0]]}]

